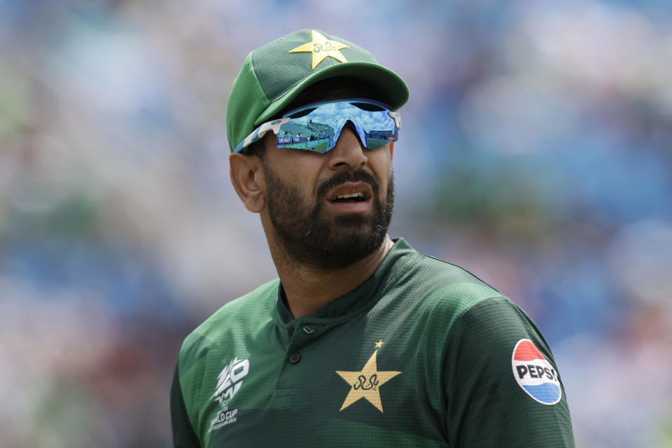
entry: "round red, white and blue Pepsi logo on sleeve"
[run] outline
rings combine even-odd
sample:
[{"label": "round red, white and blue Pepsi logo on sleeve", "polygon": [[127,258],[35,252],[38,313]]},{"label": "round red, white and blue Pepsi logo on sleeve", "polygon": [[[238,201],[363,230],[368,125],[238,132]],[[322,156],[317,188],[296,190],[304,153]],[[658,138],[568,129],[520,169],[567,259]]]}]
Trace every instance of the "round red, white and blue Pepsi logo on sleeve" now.
[{"label": "round red, white and blue Pepsi logo on sleeve", "polygon": [[511,356],[513,376],[518,385],[542,405],[560,401],[562,389],[558,372],[530,339],[520,339]]}]

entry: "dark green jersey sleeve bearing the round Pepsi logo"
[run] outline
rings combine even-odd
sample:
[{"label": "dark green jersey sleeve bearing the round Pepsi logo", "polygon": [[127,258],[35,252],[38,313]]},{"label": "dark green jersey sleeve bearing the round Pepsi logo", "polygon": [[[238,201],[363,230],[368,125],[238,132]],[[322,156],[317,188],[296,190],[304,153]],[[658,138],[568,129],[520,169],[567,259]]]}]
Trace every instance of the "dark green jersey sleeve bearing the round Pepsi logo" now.
[{"label": "dark green jersey sleeve bearing the round Pepsi logo", "polygon": [[451,447],[574,447],[551,351],[509,299],[465,311],[449,332],[443,359]]}]

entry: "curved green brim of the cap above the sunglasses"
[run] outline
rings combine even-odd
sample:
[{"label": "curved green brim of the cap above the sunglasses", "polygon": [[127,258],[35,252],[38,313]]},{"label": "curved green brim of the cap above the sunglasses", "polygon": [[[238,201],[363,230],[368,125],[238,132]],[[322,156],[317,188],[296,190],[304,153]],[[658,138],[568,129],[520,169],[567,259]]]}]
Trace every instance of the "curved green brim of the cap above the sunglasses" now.
[{"label": "curved green brim of the cap above the sunglasses", "polygon": [[383,97],[375,99],[384,102],[390,106],[393,111],[396,111],[408,101],[408,86],[397,73],[394,73],[390,69],[386,69],[384,66],[372,64],[371,62],[345,62],[320,70],[302,80],[279,99],[276,99],[269,104],[265,111],[263,111],[259,118],[257,118],[254,125],[258,126],[276,116],[309,85],[323,79],[335,78],[337,76],[364,80],[367,83],[378,87]]}]

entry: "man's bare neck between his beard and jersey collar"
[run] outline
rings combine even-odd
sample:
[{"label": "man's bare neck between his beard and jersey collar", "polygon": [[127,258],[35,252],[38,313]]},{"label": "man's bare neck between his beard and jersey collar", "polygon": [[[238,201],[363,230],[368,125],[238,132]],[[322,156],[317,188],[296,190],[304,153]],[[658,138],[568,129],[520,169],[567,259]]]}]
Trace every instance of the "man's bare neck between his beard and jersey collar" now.
[{"label": "man's bare neck between his beard and jersey collar", "polygon": [[315,311],[360,286],[377,269],[393,246],[386,235],[383,244],[372,254],[340,269],[319,269],[282,259],[279,248],[271,247],[271,255],[287,295],[294,317],[312,316]]}]

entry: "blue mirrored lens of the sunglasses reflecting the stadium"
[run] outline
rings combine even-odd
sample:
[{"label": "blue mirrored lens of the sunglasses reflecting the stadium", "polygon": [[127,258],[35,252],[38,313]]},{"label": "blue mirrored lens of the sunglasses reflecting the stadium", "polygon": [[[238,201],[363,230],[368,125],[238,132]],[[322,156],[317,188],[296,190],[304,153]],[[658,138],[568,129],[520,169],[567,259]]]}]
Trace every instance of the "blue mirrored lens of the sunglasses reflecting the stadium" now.
[{"label": "blue mirrored lens of the sunglasses reflecting the stadium", "polygon": [[289,113],[289,123],[276,137],[279,148],[326,153],[336,146],[343,126],[351,122],[365,146],[372,150],[397,140],[395,120],[388,111],[370,102],[334,102]]}]

